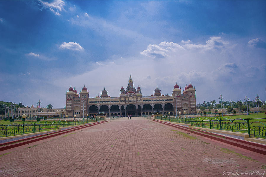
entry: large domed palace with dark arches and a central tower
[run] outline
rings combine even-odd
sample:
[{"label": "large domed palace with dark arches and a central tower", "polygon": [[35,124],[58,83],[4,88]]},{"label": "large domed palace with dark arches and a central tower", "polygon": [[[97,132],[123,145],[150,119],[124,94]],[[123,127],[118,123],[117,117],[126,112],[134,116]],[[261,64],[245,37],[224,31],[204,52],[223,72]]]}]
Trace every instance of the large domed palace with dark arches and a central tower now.
[{"label": "large domed palace with dark arches and a central tower", "polygon": [[107,116],[152,115],[154,111],[161,111],[167,115],[168,112],[176,115],[179,112],[183,114],[184,111],[186,114],[197,114],[195,88],[189,84],[183,93],[181,92],[179,85],[176,84],[172,95],[161,94],[157,87],[151,96],[142,96],[140,87],[135,89],[131,76],[126,90],[121,87],[119,97],[110,97],[104,88],[100,96],[89,98],[89,91],[85,85],[80,94],[70,86],[66,93],[66,114],[69,117],[83,117],[83,111],[85,117],[87,114],[91,116],[98,112],[105,112]]}]

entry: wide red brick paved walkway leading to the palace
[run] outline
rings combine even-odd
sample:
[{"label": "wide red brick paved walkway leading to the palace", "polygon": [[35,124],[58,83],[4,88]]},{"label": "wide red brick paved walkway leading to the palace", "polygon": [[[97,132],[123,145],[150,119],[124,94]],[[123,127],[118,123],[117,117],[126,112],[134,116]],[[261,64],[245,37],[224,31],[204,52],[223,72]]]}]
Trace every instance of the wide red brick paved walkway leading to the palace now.
[{"label": "wide red brick paved walkway leading to the palace", "polygon": [[142,117],[116,119],[0,154],[0,176],[262,176],[256,173],[266,171],[265,155]]}]

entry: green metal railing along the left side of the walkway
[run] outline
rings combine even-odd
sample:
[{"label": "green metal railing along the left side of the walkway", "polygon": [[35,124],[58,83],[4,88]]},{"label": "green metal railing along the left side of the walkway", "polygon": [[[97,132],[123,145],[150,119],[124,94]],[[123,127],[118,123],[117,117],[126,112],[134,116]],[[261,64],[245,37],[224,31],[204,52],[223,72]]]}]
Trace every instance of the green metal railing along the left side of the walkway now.
[{"label": "green metal railing along the left side of the walkway", "polygon": [[97,119],[90,118],[77,118],[77,119],[66,119],[58,120],[55,122],[33,122],[33,123],[12,123],[9,125],[1,124],[0,125],[0,137],[23,135],[36,132],[44,132],[50,130],[57,130],[60,127],[68,127],[75,125],[83,125],[83,123],[88,122],[97,122],[99,120],[104,120],[103,117],[97,117]]}]

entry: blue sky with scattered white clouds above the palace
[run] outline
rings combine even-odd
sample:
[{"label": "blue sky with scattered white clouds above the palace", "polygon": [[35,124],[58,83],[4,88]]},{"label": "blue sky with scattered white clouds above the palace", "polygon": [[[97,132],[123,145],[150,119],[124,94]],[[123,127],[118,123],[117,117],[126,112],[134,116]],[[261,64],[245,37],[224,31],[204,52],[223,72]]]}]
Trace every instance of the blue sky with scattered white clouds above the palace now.
[{"label": "blue sky with scattered white clouds above the palace", "polygon": [[191,83],[196,102],[266,100],[266,1],[0,1],[1,101],[66,105]]}]

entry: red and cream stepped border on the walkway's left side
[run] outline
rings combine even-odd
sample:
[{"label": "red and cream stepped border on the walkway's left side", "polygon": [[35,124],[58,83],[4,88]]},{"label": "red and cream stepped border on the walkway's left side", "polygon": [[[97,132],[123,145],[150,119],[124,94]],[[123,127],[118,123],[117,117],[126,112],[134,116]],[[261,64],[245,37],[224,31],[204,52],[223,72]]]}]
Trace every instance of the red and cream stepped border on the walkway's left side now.
[{"label": "red and cream stepped border on the walkway's left side", "polygon": [[[92,124],[82,125],[82,126],[73,127],[73,128],[67,129],[67,130],[60,130],[60,131],[47,133],[47,134],[43,134],[43,135],[38,135],[38,136],[34,136],[34,137],[29,137],[29,138],[25,138],[25,139],[21,139],[21,140],[4,142],[4,143],[0,144],[0,151],[11,149],[11,148],[15,148],[15,147],[22,146],[22,145],[25,145],[25,144],[28,144],[28,143],[44,140],[44,139],[47,139],[47,138],[55,137],[55,136],[62,135],[62,134],[65,134],[65,133],[73,132],[75,130],[80,130],[82,128],[91,127],[93,125],[98,125],[98,124],[101,124],[101,123],[104,123],[104,122],[107,122],[107,121],[101,121],[101,122],[96,122],[96,123],[92,123]],[[31,139],[33,139],[33,140],[31,140]]]}]

